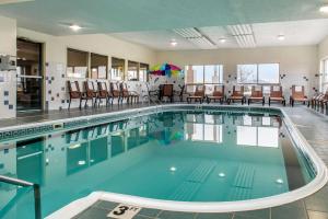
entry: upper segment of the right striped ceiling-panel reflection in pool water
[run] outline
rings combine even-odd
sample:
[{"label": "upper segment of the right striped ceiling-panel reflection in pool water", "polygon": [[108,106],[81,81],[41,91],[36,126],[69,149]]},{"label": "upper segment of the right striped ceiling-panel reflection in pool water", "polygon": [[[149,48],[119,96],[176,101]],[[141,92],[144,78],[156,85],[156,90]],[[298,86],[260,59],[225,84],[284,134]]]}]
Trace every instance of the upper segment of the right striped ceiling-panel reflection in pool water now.
[{"label": "upper segment of the right striped ceiling-panel reflection in pool water", "polygon": [[239,165],[233,186],[253,188],[255,168],[253,165]]}]

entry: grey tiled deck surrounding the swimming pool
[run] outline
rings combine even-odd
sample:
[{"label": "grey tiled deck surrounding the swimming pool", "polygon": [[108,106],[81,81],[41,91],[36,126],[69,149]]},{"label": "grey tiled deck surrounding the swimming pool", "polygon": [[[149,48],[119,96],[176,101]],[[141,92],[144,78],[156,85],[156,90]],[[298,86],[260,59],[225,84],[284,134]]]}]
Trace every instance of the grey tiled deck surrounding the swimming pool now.
[{"label": "grey tiled deck surrounding the swimming pool", "polygon": [[[142,107],[147,105],[133,105],[132,107]],[[59,119],[66,117],[77,117],[91,114],[99,114],[108,111],[121,111],[131,108],[131,106],[114,106],[113,108],[97,108],[86,111],[51,112],[39,115],[22,116],[16,119],[0,120],[0,127],[7,127],[17,124],[27,124],[49,119]],[[313,146],[318,155],[328,165],[328,117],[311,108],[284,107],[284,111],[296,125],[306,140]],[[75,219],[106,219],[118,204],[109,201],[97,201]],[[316,194],[301,199],[298,201],[254,211],[230,212],[230,214],[197,214],[197,212],[174,212],[159,209],[143,208],[134,219],[328,219],[328,185]]]}]

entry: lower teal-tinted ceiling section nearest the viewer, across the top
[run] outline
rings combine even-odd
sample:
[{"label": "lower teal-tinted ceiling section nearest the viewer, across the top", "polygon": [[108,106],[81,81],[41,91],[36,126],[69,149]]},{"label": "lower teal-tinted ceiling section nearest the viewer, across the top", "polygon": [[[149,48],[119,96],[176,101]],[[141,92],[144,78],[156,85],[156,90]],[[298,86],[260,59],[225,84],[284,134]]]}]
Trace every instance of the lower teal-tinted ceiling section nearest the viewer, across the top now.
[{"label": "lower teal-tinted ceiling section nearest the viewer, across the top", "polygon": [[[323,19],[324,0],[0,0],[19,26],[54,34],[160,31]],[[5,2],[16,3],[5,3]],[[327,16],[328,18],[328,16]]]}]

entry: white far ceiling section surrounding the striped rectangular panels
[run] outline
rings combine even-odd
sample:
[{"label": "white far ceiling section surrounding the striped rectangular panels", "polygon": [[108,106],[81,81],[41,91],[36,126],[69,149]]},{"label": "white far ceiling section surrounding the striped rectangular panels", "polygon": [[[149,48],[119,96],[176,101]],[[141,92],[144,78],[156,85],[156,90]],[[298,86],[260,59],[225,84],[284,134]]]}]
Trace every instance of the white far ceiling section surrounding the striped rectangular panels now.
[{"label": "white far ceiling section surrounding the striped rectangular panels", "polygon": [[[249,25],[253,28],[255,45],[239,45],[229,26],[199,27],[198,30],[210,38],[214,45],[200,45],[192,43],[172,31],[125,32],[110,34],[132,43],[145,45],[156,50],[186,50],[186,49],[216,49],[238,47],[270,47],[270,46],[300,46],[316,45],[328,35],[328,19],[257,23]],[[279,41],[283,35],[284,41]],[[221,43],[220,39],[226,39]],[[171,41],[177,42],[176,46]]]}]

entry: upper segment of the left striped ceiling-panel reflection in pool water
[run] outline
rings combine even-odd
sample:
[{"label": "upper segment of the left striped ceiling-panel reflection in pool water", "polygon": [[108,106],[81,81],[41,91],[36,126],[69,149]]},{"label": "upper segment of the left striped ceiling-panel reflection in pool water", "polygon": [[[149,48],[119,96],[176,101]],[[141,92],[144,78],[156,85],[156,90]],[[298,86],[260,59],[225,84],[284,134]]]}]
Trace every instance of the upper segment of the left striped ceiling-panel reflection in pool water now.
[{"label": "upper segment of the left striped ceiling-panel reflection in pool water", "polygon": [[187,181],[194,183],[203,183],[215,165],[216,162],[214,161],[202,161],[188,176]]}]

